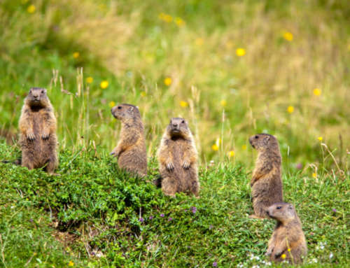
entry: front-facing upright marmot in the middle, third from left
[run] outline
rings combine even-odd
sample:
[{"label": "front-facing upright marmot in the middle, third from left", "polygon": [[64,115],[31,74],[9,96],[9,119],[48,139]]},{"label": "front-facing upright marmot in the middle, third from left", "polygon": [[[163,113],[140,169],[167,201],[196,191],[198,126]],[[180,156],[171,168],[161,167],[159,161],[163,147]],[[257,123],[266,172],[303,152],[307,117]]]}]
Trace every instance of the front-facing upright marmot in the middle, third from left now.
[{"label": "front-facing upright marmot in the middle, third from left", "polygon": [[172,118],[160,142],[158,161],[162,177],[162,191],[173,196],[176,192],[200,190],[197,171],[197,150],[188,123],[183,118]]}]

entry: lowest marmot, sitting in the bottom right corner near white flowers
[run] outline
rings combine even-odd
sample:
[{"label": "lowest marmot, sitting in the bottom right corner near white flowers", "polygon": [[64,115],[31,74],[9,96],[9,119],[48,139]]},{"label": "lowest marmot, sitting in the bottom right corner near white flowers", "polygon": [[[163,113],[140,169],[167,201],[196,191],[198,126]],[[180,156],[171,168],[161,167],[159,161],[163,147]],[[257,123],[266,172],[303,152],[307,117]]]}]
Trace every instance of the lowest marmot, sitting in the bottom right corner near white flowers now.
[{"label": "lowest marmot, sitting in the bottom right corner near white flowers", "polygon": [[302,256],[307,255],[307,244],[302,224],[293,205],[276,203],[269,206],[266,213],[269,218],[277,220],[266,255],[274,262],[283,260],[293,264],[302,262]]}]

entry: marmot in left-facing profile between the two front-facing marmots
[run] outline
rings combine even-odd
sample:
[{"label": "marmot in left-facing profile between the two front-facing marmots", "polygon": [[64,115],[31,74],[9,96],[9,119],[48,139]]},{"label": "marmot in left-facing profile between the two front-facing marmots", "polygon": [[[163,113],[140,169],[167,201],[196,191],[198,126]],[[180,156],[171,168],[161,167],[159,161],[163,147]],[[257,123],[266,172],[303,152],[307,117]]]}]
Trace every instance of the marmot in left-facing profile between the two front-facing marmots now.
[{"label": "marmot in left-facing profile between the two front-facing marmots", "polygon": [[122,122],[118,145],[111,155],[118,157],[118,166],[121,169],[146,176],[146,143],[139,108],[131,104],[119,104],[111,112]]}]

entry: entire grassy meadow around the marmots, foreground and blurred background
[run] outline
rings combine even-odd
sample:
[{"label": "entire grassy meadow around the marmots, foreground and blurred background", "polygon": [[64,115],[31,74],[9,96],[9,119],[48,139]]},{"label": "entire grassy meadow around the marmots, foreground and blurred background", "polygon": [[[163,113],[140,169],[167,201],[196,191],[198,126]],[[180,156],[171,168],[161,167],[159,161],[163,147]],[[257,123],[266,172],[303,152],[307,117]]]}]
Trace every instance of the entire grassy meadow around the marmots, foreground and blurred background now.
[{"label": "entire grassy meadow around the marmots, foreground and blurred background", "polygon": [[[277,137],[304,267],[348,267],[346,0],[0,1],[0,160],[20,157],[30,87],[55,107],[60,176],[0,163],[0,267],[265,267],[248,137]],[[109,153],[118,103],[139,106],[148,176]],[[200,153],[200,199],[169,198],[155,152],[172,117]],[[281,265],[286,266],[286,265]]]}]

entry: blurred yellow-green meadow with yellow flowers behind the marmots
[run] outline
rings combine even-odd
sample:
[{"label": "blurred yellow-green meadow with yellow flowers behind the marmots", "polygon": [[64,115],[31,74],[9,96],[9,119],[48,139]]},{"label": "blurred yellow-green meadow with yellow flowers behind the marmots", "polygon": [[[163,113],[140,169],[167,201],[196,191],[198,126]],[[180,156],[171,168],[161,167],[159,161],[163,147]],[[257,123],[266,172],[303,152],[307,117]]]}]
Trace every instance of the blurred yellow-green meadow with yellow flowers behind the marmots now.
[{"label": "blurred yellow-green meadow with yellow flowers behind the marmots", "polygon": [[[172,117],[202,164],[253,164],[275,135],[288,169],[347,169],[347,0],[1,0],[0,134],[13,143],[30,87],[55,107],[61,150],[109,153],[118,103],[139,106],[148,155]],[[323,145],[324,144],[324,145]],[[307,169],[311,164],[311,169]]]}]

